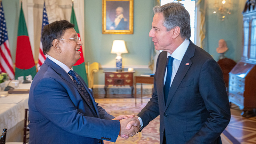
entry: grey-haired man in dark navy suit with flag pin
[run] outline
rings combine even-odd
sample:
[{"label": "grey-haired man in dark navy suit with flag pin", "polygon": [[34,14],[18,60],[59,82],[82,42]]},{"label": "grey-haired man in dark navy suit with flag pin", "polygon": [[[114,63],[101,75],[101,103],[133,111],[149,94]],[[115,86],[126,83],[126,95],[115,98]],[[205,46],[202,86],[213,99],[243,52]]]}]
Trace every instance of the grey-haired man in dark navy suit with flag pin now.
[{"label": "grey-haired man in dark navy suit with flag pin", "polygon": [[153,11],[149,36],[163,52],[152,98],[127,129],[136,125],[142,130],[160,115],[161,144],[221,144],[230,108],[219,65],[189,40],[190,16],[183,4],[155,6]]}]

